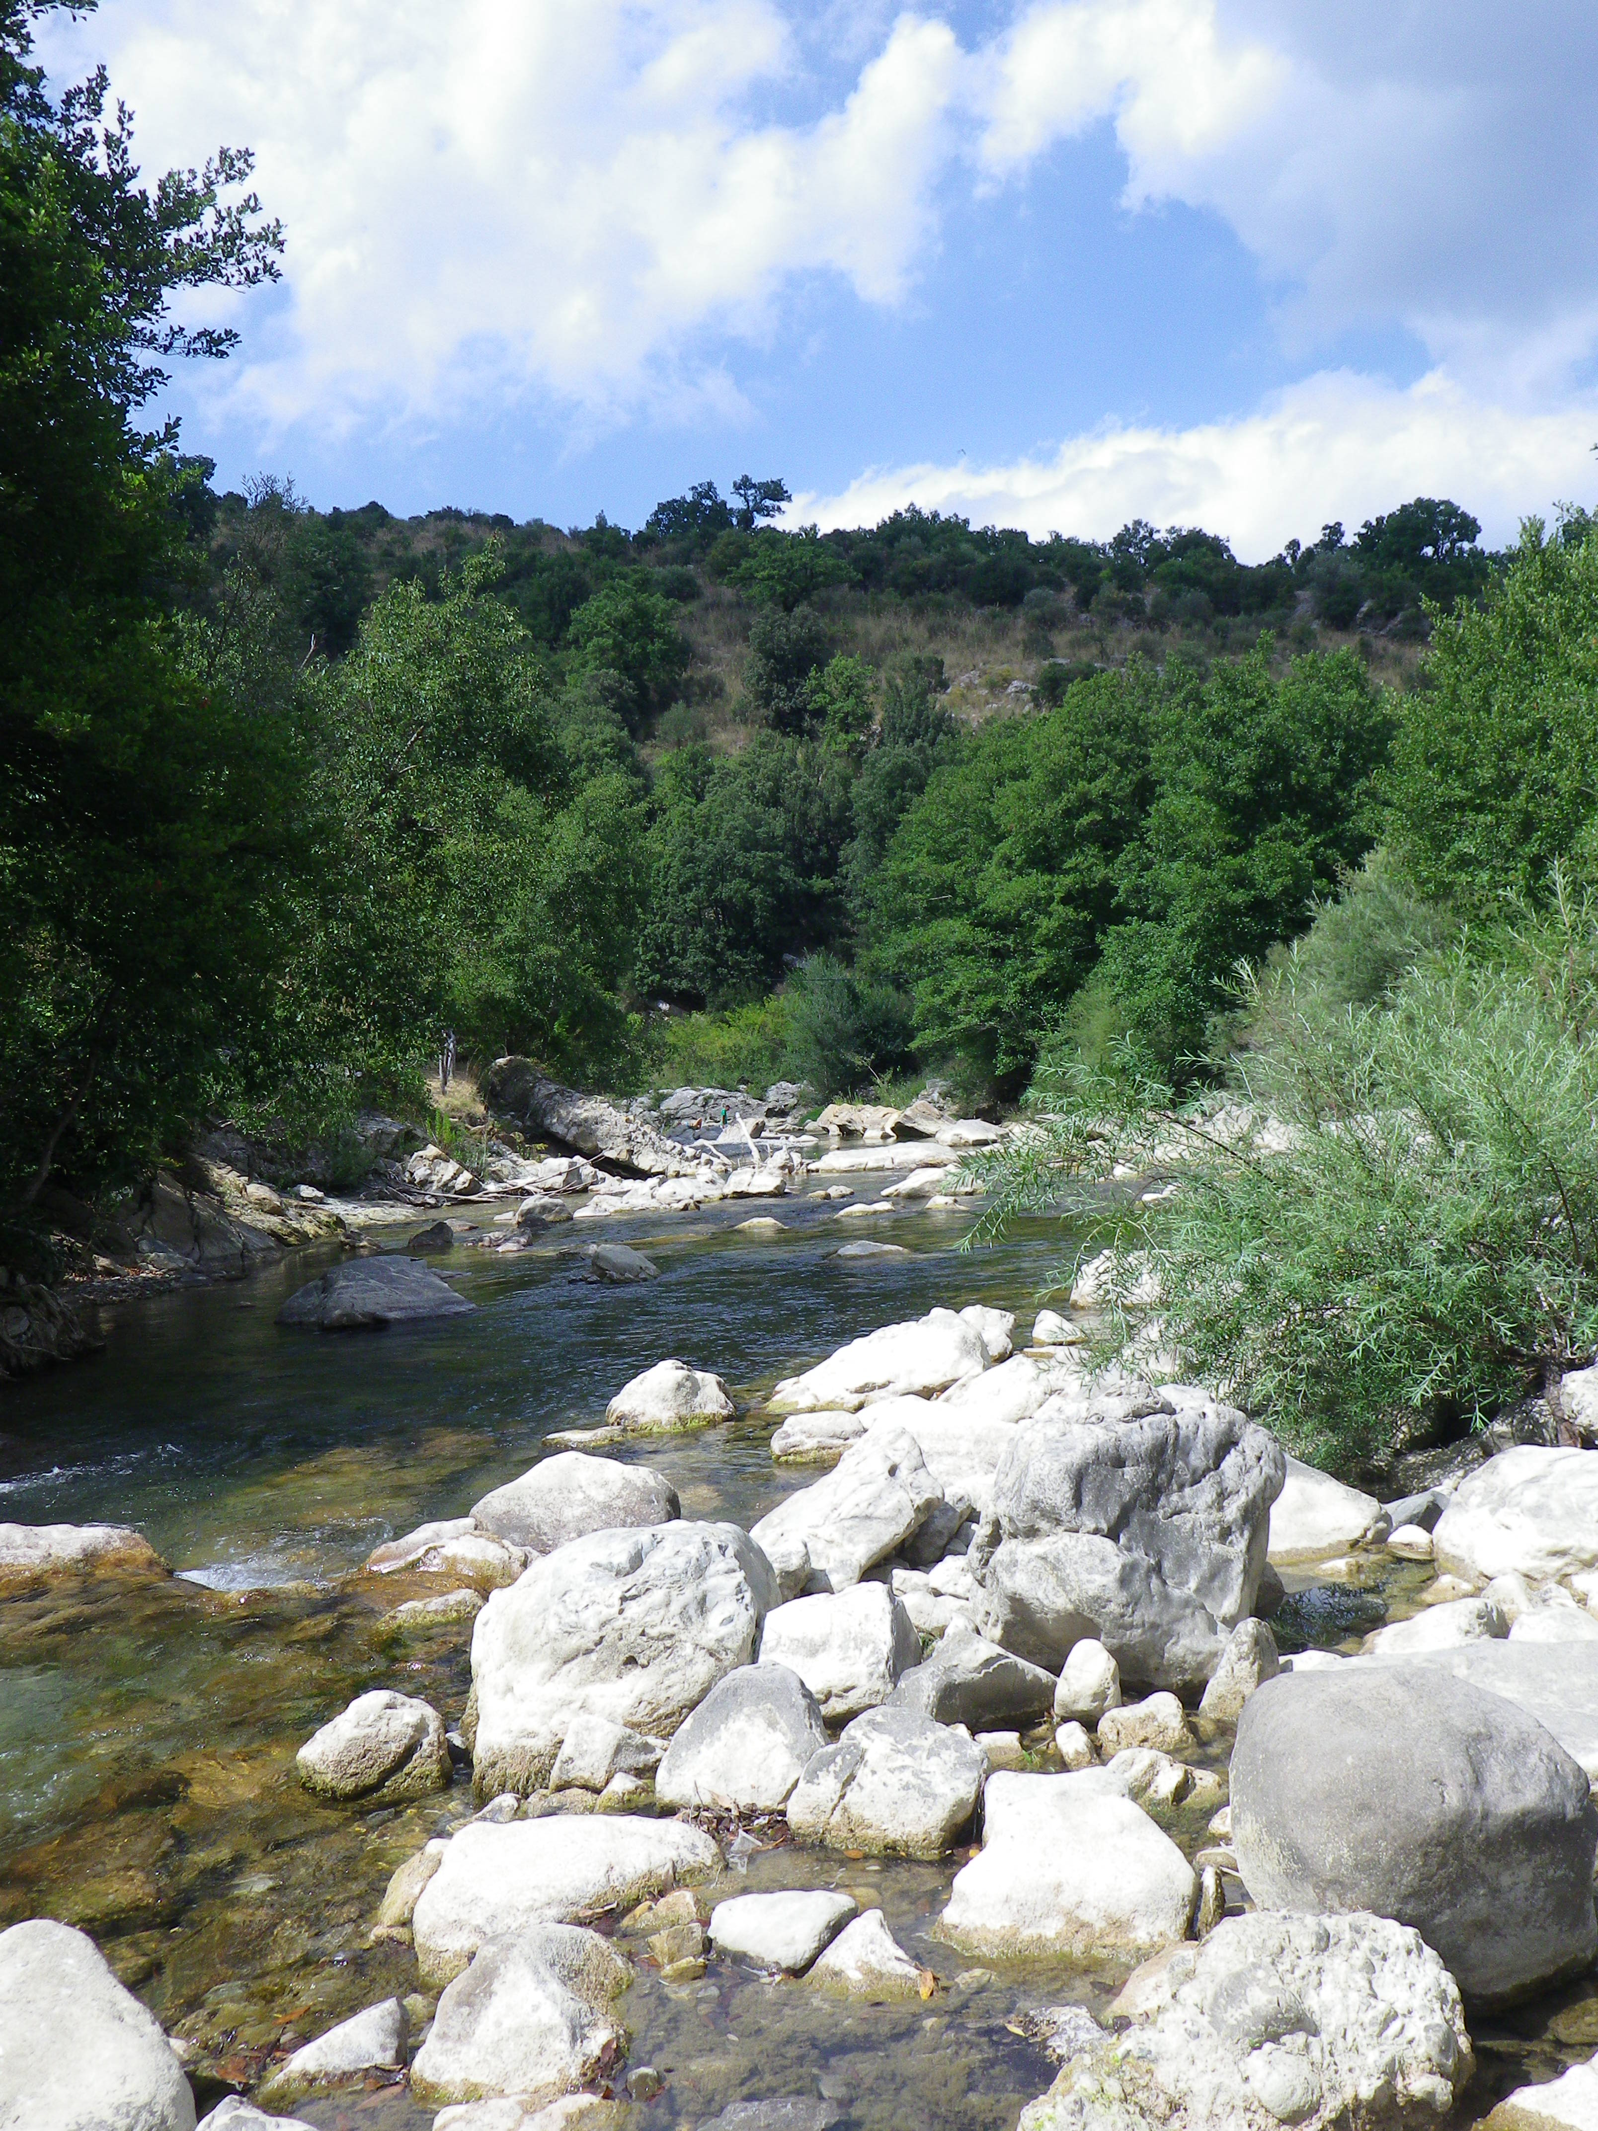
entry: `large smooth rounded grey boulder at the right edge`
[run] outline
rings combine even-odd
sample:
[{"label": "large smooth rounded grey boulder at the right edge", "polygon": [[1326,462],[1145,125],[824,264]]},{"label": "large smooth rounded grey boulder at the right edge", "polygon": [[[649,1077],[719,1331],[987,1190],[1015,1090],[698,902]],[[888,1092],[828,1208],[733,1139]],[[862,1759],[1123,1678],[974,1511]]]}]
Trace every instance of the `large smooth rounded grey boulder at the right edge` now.
[{"label": "large smooth rounded grey boulder at the right edge", "polygon": [[1513,1703],[1419,1666],[1266,1681],[1238,1722],[1232,1841],[1259,1907],[1413,1924],[1479,2005],[1598,1954],[1585,1771]]}]

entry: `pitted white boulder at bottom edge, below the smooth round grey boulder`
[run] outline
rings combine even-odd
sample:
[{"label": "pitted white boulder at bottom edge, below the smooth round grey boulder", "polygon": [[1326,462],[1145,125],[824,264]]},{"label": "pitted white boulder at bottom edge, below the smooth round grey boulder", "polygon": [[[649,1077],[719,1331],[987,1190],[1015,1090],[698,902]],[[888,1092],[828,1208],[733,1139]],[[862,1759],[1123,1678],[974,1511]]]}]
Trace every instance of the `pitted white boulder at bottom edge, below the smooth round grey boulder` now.
[{"label": "pitted white boulder at bottom edge, below the smooth round grey boulder", "polygon": [[1225,1918],[1123,2005],[1131,2029],[1074,2052],[1021,2131],[1417,2131],[1474,2069],[1453,1978],[1376,1916]]}]

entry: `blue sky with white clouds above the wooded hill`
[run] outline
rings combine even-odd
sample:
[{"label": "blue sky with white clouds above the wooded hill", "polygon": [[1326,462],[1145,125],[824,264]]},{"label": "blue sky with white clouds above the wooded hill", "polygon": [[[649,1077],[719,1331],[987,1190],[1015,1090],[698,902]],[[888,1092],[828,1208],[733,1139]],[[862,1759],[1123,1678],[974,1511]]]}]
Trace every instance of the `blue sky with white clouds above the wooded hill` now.
[{"label": "blue sky with white clouds above the wooded hill", "polygon": [[173,388],[313,503],[1204,522],[1594,501],[1575,0],[102,0],[147,170],[258,149],[283,283]]}]

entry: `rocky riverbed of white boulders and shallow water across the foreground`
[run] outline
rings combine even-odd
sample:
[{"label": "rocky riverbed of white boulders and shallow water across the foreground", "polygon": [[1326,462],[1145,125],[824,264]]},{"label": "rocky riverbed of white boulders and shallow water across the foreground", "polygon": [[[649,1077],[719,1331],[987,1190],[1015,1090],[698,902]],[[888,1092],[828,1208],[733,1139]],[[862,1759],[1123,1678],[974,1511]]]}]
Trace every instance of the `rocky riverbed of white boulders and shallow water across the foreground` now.
[{"label": "rocky riverbed of white boulders and shallow water across the foreground", "polygon": [[0,2120],[1596,2120],[1598,1453],[1383,1504],[816,1189],[13,1396]]}]

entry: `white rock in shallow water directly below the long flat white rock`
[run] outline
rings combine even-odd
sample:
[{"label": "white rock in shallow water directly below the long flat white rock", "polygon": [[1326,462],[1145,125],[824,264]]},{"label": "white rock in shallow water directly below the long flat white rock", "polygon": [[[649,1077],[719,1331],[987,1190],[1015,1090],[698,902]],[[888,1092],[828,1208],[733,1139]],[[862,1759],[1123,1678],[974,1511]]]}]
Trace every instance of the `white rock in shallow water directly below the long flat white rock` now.
[{"label": "white rock in shallow water directly below the long flat white rock", "polygon": [[418,2101],[554,2101],[624,2046],[609,2016],[626,1961],[575,1924],[528,1924],[488,1939],[456,1975],[411,2065]]}]

